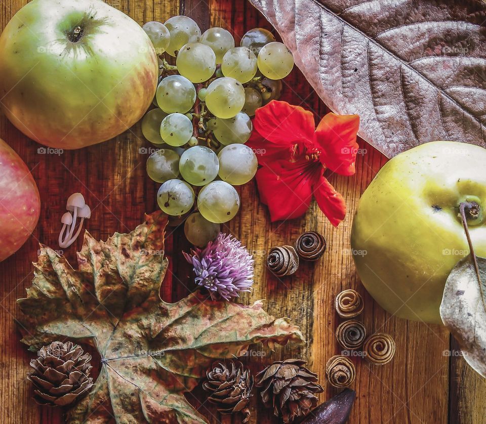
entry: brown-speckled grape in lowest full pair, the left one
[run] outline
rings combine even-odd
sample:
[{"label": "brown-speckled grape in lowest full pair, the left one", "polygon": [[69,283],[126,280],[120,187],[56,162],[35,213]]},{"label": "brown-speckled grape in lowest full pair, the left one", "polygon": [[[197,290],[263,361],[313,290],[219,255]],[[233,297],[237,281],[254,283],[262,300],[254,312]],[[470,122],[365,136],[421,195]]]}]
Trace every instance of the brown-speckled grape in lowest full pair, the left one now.
[{"label": "brown-speckled grape in lowest full pair, the left one", "polygon": [[157,203],[167,215],[183,215],[194,204],[194,190],[185,181],[166,181],[158,189]]}]

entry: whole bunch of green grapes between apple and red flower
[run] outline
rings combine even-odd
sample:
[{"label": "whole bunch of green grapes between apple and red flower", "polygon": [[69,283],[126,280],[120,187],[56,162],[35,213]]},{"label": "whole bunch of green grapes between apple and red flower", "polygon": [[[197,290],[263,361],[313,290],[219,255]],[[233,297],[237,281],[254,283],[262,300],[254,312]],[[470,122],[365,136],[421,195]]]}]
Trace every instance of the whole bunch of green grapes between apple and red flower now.
[{"label": "whole bunch of green grapes between apple and red flower", "polygon": [[160,208],[177,225],[185,221],[187,239],[203,247],[239,210],[234,186],[251,181],[258,167],[245,145],[251,117],[280,97],[294,58],[263,28],[248,31],[238,47],[226,29],[201,34],[186,16],[143,29],[159,57],[155,108],[142,119],[144,137],[158,148],[147,174],[162,184]]}]

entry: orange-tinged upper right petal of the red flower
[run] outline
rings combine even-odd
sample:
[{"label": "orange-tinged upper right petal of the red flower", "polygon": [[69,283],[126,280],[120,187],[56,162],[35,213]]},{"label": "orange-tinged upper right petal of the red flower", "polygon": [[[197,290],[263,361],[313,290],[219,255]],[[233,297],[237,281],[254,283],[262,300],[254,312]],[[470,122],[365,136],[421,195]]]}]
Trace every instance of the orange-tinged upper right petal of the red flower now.
[{"label": "orange-tinged upper right petal of the red flower", "polygon": [[315,131],[315,143],[322,149],[319,160],[331,171],[341,175],[353,175],[356,170],[356,135],[358,115],[328,113]]}]

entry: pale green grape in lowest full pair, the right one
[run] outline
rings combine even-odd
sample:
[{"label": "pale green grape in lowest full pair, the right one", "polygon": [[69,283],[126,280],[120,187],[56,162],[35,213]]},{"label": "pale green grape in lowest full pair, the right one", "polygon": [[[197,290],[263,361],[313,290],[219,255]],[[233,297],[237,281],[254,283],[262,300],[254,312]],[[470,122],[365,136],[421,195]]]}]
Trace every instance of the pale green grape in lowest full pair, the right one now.
[{"label": "pale green grape in lowest full pair, the right one", "polygon": [[239,209],[239,196],[233,186],[213,181],[199,192],[197,207],[208,221],[223,224],[234,218]]}]

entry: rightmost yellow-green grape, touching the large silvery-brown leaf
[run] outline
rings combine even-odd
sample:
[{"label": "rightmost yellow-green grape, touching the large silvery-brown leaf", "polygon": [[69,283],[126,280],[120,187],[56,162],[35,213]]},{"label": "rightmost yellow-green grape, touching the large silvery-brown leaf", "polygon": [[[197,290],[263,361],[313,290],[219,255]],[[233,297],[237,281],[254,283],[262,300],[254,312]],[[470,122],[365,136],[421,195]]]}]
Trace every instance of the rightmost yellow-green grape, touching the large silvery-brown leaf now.
[{"label": "rightmost yellow-green grape, touching the large silvery-brown leaf", "polygon": [[282,79],[290,74],[294,67],[292,52],[282,43],[266,44],[258,54],[258,69],[272,79]]}]

